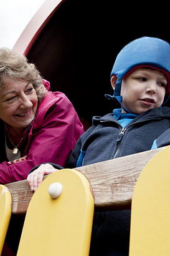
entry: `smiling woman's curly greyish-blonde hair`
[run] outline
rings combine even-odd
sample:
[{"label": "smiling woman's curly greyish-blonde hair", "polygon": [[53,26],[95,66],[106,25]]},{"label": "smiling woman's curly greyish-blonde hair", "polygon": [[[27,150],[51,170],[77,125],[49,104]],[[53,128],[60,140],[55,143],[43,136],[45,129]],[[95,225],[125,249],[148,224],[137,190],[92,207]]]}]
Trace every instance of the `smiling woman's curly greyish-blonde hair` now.
[{"label": "smiling woman's curly greyish-blonde hair", "polygon": [[7,80],[26,80],[31,82],[39,100],[47,92],[35,65],[29,63],[25,56],[2,47],[0,48],[0,89],[6,86]]}]

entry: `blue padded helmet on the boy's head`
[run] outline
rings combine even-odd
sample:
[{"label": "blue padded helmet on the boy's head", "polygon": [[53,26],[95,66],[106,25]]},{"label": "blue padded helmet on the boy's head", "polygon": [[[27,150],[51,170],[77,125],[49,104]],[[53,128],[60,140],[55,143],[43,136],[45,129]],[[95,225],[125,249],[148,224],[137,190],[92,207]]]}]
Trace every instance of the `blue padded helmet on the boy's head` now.
[{"label": "blue padded helmet on the boy's head", "polygon": [[164,73],[168,81],[166,94],[170,94],[170,45],[162,39],[144,36],[131,41],[116,57],[111,71],[111,76],[117,77],[113,97],[120,96],[121,82],[125,75],[145,66]]}]

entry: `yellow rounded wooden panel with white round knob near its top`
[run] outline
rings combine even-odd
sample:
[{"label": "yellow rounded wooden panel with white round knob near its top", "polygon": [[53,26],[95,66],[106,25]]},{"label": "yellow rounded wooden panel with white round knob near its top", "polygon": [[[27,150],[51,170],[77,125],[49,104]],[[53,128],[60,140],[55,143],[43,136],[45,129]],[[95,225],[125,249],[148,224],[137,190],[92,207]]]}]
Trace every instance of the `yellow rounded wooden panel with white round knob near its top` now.
[{"label": "yellow rounded wooden panel with white round knob near its top", "polygon": [[[59,182],[57,199],[48,193]],[[88,180],[76,170],[49,175],[29,204],[17,256],[85,256],[89,254],[94,200]]]}]

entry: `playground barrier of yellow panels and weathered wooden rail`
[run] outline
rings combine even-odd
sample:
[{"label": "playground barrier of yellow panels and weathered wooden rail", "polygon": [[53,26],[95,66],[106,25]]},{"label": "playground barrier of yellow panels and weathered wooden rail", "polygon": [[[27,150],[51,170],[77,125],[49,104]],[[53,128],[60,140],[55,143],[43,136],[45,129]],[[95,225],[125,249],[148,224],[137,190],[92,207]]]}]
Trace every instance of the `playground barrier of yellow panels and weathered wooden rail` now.
[{"label": "playground barrier of yellow panels and weathered wooden rail", "polygon": [[[35,193],[26,180],[1,185],[0,250],[10,215],[26,213],[18,256],[87,256],[94,209],[131,209],[129,256],[168,256],[169,155],[168,146],[62,169],[45,177]],[[56,182],[62,189],[51,197]]]}]

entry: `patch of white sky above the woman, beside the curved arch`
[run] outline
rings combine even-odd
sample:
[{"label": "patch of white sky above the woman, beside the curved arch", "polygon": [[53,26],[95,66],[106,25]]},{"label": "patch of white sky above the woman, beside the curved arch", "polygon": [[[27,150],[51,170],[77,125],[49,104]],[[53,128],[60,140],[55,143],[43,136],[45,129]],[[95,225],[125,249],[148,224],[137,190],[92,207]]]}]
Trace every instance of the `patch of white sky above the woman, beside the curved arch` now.
[{"label": "patch of white sky above the woman, beside the curved arch", "polygon": [[0,0],[0,47],[11,48],[45,0]]}]

